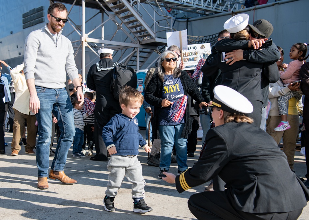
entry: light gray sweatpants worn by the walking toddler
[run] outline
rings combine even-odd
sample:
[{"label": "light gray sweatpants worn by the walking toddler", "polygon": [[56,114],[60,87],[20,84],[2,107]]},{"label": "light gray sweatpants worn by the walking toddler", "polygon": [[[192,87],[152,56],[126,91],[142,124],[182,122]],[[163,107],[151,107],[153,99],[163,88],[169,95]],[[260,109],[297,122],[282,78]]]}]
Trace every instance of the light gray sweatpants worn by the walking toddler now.
[{"label": "light gray sweatpants worn by the walking toddler", "polygon": [[142,165],[138,161],[137,156],[125,157],[111,155],[108,161],[107,169],[110,171],[108,175],[108,184],[105,194],[108,197],[115,197],[118,189],[120,189],[125,177],[132,183],[132,198],[145,198],[144,186],[146,182],[143,177]]}]

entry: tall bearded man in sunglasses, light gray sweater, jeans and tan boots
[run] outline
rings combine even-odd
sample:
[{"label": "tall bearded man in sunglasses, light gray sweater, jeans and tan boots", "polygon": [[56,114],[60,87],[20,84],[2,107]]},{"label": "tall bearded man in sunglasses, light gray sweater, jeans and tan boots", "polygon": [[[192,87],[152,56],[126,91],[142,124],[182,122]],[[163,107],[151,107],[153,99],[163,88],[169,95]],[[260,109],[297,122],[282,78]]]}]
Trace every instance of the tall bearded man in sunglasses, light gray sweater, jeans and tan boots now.
[{"label": "tall bearded man in sunglasses, light gray sweater, jeans and tan boots", "polygon": [[[66,184],[77,182],[63,172],[75,134],[73,106],[65,89],[67,75],[77,89],[79,105],[84,101],[72,44],[61,35],[62,27],[68,21],[67,16],[66,6],[58,2],[53,3],[47,10],[49,23],[39,30],[32,31],[25,42],[23,71],[30,92],[29,107],[32,113],[36,114],[39,128],[36,147],[39,189],[48,189],[47,176]],[[58,120],[61,136],[48,174],[51,112]]]}]

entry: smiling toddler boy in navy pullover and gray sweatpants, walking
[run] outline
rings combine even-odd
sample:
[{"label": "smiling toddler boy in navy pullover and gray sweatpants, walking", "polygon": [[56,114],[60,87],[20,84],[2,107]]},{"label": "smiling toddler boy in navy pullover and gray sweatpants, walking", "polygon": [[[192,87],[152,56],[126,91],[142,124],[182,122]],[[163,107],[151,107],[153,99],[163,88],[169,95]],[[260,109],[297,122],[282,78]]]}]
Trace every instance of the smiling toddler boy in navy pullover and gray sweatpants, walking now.
[{"label": "smiling toddler boy in navy pullover and gray sweatpants, walking", "polygon": [[115,211],[114,198],[125,176],[132,183],[133,212],[152,211],[144,200],[146,182],[142,174],[142,165],[137,159],[139,145],[146,152],[150,152],[146,141],[138,133],[138,120],[135,118],[143,100],[144,97],[138,90],[129,86],[122,88],[119,94],[122,113],[112,117],[103,128],[103,141],[111,155],[107,165],[110,174],[103,200],[104,209],[108,212]]}]

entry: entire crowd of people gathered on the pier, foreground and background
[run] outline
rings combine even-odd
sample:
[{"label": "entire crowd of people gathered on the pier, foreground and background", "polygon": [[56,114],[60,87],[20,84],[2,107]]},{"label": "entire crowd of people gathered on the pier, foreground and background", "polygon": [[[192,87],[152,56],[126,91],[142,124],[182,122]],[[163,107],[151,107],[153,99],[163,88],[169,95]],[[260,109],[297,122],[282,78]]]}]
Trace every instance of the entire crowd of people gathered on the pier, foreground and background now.
[{"label": "entire crowd of people gathered on the pier, foreground and background", "polygon": [[[61,35],[67,13],[62,3],[51,4],[49,23],[26,38],[24,63],[12,69],[0,60],[10,71],[0,79],[0,122],[4,128],[9,112],[12,156],[18,156],[27,126],[25,153],[36,154],[39,189],[49,188],[47,177],[65,184],[77,182],[64,173],[73,143],[72,157],[86,157],[88,150],[91,161],[108,161],[106,211],[116,210],[114,199],[126,177],[132,183],[133,211],[150,212],[137,157],[141,146],[150,153],[148,165],[159,167],[158,178],[175,184],[179,193],[213,181],[188,201],[198,219],[298,218],[309,201],[306,43],[293,44],[292,61],[284,64],[281,47],[273,42],[265,46],[272,24],[258,19],[251,25],[247,14],[238,14],[225,22],[201,68],[201,80],[193,80],[192,71],[183,71],[182,51],[172,45],[148,70],[143,93],[125,86],[114,97],[110,87],[114,51],[98,51],[100,60],[90,67],[86,87],[72,44]],[[136,118],[142,104],[146,141]],[[304,183],[293,170],[299,115],[305,137],[302,151],[307,155]],[[188,168],[200,120],[205,149]],[[281,138],[283,152],[278,147]],[[0,129],[0,153],[5,153],[4,129]],[[178,165],[177,176],[168,172],[173,162]]]}]

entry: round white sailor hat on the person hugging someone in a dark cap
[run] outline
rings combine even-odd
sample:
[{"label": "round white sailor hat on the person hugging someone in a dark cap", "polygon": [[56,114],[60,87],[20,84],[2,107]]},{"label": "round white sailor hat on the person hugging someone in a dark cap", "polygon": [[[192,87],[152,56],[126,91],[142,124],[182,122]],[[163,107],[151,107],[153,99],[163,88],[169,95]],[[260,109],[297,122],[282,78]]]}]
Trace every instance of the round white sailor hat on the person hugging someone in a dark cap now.
[{"label": "round white sailor hat on the person hugging someone in a dark cap", "polygon": [[237,14],[230,19],[228,19],[223,28],[230,33],[237,33],[245,29],[249,22],[248,14]]}]

